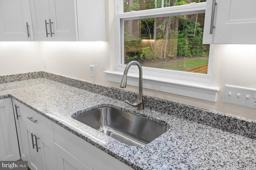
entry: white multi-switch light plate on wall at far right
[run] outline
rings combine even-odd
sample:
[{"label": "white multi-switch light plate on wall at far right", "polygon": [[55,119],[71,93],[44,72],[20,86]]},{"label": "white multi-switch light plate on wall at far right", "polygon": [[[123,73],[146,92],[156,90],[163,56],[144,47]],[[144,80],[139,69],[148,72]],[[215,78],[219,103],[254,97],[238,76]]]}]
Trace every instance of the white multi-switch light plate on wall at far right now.
[{"label": "white multi-switch light plate on wall at far right", "polygon": [[256,109],[256,89],[225,85],[223,102]]}]

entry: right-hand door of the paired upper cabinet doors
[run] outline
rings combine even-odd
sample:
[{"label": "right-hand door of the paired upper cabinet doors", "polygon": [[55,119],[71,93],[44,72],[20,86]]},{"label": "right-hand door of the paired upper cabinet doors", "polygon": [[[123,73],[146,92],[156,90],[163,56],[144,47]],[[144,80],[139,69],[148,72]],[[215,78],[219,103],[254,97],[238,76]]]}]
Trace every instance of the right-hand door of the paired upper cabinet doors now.
[{"label": "right-hand door of the paired upper cabinet doors", "polygon": [[52,41],[77,41],[76,0],[49,0],[49,8]]}]

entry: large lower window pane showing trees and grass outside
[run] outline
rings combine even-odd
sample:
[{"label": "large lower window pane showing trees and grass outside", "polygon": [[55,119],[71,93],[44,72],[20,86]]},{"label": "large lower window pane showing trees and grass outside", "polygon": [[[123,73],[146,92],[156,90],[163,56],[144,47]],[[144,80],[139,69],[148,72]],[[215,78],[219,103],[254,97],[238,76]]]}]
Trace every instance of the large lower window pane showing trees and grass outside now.
[{"label": "large lower window pane showing trees and grass outside", "polygon": [[[188,1],[188,0],[187,0]],[[204,13],[124,21],[123,63],[207,74]]]}]

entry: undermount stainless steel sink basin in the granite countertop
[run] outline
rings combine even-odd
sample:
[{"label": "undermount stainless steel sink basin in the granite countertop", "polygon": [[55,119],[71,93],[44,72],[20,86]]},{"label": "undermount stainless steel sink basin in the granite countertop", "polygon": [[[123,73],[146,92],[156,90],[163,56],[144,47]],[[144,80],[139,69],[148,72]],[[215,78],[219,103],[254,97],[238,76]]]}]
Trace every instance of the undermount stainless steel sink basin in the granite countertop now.
[{"label": "undermount stainless steel sink basin in the granite countertop", "polygon": [[143,146],[169,127],[114,107],[99,107],[73,117],[74,119],[131,146]]}]

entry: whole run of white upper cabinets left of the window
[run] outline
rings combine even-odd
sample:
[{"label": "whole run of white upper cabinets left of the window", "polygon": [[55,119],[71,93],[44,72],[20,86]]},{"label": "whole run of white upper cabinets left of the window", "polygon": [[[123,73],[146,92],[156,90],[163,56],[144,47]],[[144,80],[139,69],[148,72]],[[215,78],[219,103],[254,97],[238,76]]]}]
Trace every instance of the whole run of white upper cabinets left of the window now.
[{"label": "whole run of white upper cabinets left of the window", "polygon": [[0,0],[0,41],[106,41],[105,0]]}]

